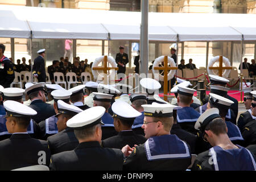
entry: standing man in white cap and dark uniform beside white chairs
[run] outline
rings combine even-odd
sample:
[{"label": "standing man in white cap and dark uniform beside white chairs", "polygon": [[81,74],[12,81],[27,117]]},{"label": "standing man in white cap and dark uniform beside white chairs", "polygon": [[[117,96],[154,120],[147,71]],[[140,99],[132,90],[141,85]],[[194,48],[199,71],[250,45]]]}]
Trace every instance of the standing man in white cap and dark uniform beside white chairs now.
[{"label": "standing man in white cap and dark uniform beside white chairs", "polygon": [[46,49],[40,49],[38,53],[39,56],[34,60],[32,73],[34,77],[38,78],[38,82],[46,82],[46,67],[44,63]]}]

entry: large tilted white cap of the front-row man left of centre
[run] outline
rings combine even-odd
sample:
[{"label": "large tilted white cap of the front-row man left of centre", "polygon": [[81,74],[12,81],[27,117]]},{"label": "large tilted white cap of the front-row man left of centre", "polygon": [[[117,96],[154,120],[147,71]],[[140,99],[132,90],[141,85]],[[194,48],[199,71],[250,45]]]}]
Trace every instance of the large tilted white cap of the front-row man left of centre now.
[{"label": "large tilted white cap of the front-row man left of centre", "polygon": [[67,121],[67,126],[75,130],[85,129],[97,124],[104,125],[101,121],[106,109],[102,106],[90,107],[81,113],[76,114],[74,117]]}]

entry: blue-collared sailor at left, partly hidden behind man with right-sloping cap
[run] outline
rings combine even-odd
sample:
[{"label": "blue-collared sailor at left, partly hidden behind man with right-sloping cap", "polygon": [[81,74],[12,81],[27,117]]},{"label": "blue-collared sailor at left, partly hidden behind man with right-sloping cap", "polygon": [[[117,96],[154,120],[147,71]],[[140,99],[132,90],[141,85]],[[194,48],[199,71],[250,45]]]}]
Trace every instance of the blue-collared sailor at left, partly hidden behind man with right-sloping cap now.
[{"label": "blue-collared sailor at left, partly hidden behind man with right-sloping cap", "polygon": [[[58,112],[58,106],[57,106],[57,101],[58,100],[62,100],[64,102],[66,102],[67,104],[70,104],[70,96],[72,94],[72,92],[68,91],[68,90],[63,90],[63,89],[57,89],[57,90],[53,90],[51,92],[52,96],[53,96],[53,108],[55,110],[55,114],[59,113]],[[41,121],[39,123],[40,129],[41,129],[41,139],[43,140],[47,140],[47,138],[51,135],[54,135],[56,133],[58,133],[58,128],[57,128],[57,118],[55,117],[55,115],[53,115],[52,117],[47,118],[44,121]]]}]

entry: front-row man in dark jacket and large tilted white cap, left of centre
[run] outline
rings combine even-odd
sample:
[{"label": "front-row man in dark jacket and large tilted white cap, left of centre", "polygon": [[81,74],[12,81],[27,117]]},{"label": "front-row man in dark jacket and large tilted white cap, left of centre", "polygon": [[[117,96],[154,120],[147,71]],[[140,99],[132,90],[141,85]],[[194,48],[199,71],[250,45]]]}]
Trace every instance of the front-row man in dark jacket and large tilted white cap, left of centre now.
[{"label": "front-row man in dark jacket and large tilted white cap, left of centre", "polygon": [[51,170],[121,171],[123,153],[116,148],[102,148],[101,121],[105,108],[91,107],[68,120],[67,126],[75,130],[79,145],[51,157]]}]

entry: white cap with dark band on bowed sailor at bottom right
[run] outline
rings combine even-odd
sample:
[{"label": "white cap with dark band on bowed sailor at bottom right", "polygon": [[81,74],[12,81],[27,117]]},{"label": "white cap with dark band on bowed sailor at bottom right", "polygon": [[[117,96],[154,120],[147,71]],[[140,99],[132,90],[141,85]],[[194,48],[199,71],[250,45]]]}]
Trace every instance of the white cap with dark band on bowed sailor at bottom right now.
[{"label": "white cap with dark band on bowed sailor at bottom right", "polygon": [[215,118],[221,118],[218,108],[207,109],[195,123],[195,129],[204,133],[205,127]]}]

